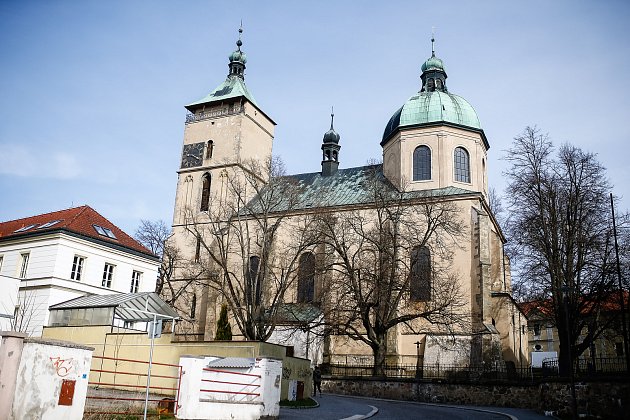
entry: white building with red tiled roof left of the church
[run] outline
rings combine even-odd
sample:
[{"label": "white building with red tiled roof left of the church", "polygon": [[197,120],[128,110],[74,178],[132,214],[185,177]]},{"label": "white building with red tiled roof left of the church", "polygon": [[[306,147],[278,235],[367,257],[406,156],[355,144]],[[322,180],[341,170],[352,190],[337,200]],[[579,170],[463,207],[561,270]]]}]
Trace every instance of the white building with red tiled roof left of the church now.
[{"label": "white building with red tiled roof left of the church", "polygon": [[[0,223],[0,313],[39,336],[48,308],[88,294],[153,292],[159,259],[89,206]],[[16,281],[19,292],[11,291]],[[9,289],[7,289],[9,288]]]}]

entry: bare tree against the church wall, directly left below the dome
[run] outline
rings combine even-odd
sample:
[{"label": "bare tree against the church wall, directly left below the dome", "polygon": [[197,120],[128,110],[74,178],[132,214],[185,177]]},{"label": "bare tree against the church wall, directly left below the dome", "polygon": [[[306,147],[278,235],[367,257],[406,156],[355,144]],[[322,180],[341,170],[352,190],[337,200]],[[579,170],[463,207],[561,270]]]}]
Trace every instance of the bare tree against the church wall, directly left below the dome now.
[{"label": "bare tree against the church wall, directly left below the dome", "polygon": [[[332,303],[327,322],[336,334],[367,344],[377,376],[384,375],[388,332],[405,325],[417,332],[423,319],[441,332],[467,328],[465,300],[450,270],[462,238],[459,209],[444,197],[398,192],[380,166],[362,187],[362,208],[323,214]],[[468,314],[469,316],[469,314]],[[423,330],[426,332],[427,330]]]}]

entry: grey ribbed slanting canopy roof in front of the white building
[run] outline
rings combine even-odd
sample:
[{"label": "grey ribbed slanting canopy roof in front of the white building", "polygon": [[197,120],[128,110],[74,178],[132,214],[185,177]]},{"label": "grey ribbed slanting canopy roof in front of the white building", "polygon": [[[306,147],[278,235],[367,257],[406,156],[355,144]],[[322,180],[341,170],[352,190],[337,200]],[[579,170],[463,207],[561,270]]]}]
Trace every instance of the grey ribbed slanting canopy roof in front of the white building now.
[{"label": "grey ribbed slanting canopy roof in front of the white building", "polygon": [[116,318],[129,322],[152,321],[153,314],[156,319],[179,319],[177,312],[154,292],[87,295],[58,303],[49,309],[87,308],[114,308]]}]

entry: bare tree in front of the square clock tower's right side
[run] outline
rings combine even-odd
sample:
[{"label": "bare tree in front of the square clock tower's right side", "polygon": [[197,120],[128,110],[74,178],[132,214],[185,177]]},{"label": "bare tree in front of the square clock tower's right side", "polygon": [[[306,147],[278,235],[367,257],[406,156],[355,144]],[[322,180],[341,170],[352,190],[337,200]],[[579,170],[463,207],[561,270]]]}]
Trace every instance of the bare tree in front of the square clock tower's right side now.
[{"label": "bare tree in front of the square clock tower's right side", "polygon": [[315,243],[313,217],[291,213],[299,188],[278,159],[244,162],[223,182],[207,214],[188,213],[200,248],[190,278],[222,298],[245,339],[265,341],[296,279],[298,257]]}]

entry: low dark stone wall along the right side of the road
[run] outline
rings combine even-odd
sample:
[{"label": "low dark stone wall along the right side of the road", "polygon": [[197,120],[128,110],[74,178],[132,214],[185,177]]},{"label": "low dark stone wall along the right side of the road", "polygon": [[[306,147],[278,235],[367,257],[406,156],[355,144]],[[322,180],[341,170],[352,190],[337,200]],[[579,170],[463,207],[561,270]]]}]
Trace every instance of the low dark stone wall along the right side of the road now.
[{"label": "low dark stone wall along the right side of the road", "polygon": [[[557,415],[571,412],[568,382],[531,384],[446,384],[405,379],[324,378],[322,389],[345,395],[494,407],[529,408]],[[628,381],[580,382],[575,386],[579,413],[606,419],[630,419]]]}]

